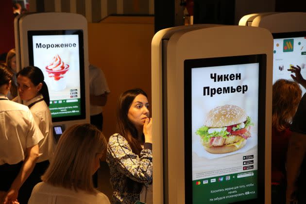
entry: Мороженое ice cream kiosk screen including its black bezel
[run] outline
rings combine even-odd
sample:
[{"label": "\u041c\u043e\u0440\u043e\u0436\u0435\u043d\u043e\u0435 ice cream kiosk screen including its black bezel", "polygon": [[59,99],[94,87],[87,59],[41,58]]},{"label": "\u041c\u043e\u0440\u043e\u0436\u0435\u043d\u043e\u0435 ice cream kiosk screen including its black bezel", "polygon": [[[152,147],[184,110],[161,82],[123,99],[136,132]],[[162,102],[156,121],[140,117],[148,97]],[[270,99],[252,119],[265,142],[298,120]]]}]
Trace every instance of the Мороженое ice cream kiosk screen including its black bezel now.
[{"label": "\u041c\u043e\u0440\u043e\u0436\u0435\u043d\u043e\u0435 ice cream kiosk screen including its black bezel", "polygon": [[42,70],[52,121],[85,119],[83,31],[28,31],[30,65]]}]

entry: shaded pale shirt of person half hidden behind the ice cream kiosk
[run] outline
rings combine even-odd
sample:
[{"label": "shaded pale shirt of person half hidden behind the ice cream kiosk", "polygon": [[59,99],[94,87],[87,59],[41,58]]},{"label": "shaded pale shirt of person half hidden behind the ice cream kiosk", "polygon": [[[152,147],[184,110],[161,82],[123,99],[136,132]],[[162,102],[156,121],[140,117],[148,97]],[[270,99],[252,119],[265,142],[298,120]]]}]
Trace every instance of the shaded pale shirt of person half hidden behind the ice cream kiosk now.
[{"label": "shaded pale shirt of person half hidden behind the ice cream kiosk", "polygon": [[[102,69],[92,65],[89,66],[89,93],[95,96],[110,93]],[[102,113],[102,107],[90,104],[90,115],[94,116]]]}]

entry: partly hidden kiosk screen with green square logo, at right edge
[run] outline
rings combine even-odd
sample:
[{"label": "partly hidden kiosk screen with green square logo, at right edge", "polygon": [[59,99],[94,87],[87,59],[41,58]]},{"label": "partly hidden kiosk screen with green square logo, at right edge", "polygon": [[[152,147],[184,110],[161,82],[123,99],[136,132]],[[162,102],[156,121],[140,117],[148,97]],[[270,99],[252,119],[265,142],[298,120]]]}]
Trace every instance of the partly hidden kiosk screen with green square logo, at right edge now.
[{"label": "partly hidden kiosk screen with green square logo, at right edge", "polygon": [[[291,66],[298,65],[306,78],[306,32],[277,33],[273,38],[273,84],[278,79],[292,80]],[[301,89],[303,96],[306,90],[302,85]]]}]

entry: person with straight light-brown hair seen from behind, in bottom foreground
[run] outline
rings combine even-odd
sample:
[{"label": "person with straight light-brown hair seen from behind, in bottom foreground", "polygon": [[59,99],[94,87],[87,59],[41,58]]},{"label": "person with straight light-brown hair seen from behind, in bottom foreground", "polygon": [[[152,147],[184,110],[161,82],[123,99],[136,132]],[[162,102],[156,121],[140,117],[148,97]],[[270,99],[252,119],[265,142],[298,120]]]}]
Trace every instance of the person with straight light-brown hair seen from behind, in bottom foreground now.
[{"label": "person with straight light-brown hair seen from behind, in bottom foreground", "polygon": [[50,166],[31,194],[29,204],[110,204],[94,188],[92,175],[100,168],[106,139],[94,125],[76,124],[60,137]]}]

